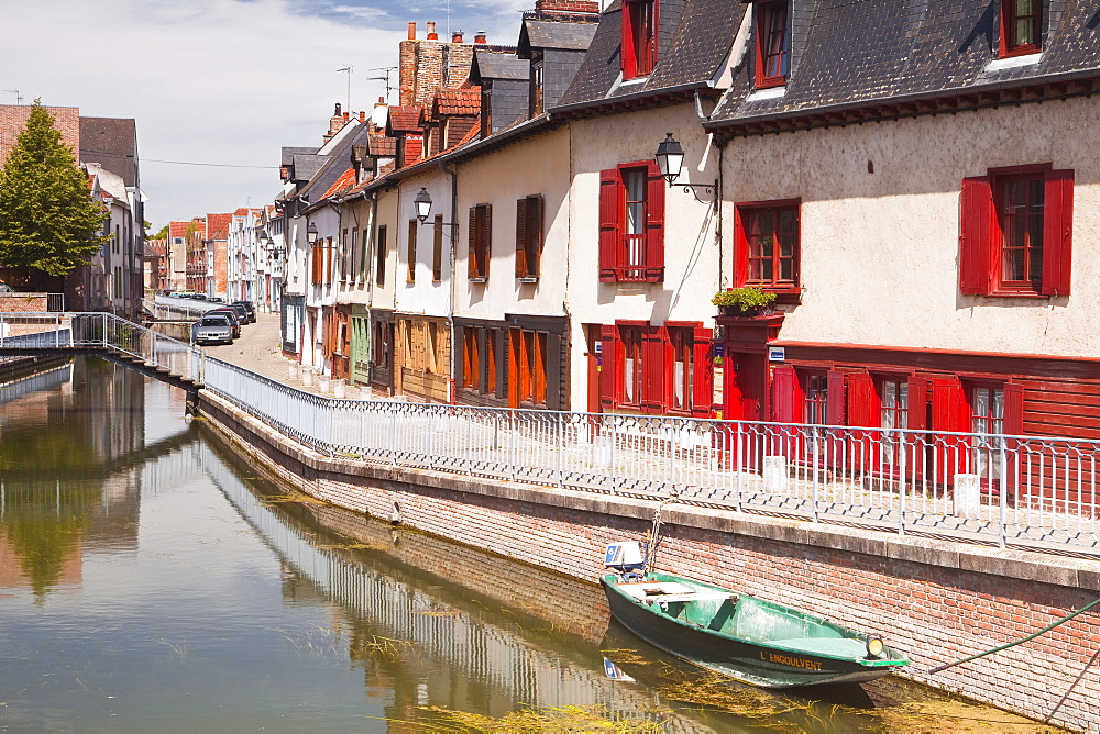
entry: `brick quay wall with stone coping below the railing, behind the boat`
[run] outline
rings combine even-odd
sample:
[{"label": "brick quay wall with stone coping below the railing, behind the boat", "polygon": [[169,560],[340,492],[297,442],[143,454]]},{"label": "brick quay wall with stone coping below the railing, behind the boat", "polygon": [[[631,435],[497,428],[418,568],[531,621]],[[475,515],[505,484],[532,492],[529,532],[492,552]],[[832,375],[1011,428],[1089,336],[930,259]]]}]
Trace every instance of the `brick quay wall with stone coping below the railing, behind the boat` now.
[{"label": "brick quay wall with stone coping below the railing, behind the boat", "polygon": [[[604,546],[642,540],[657,503],[327,457],[232,404],[200,411],[258,468],[334,505],[595,582]],[[1100,731],[1100,561],[670,504],[662,570],[881,633],[903,676],[1072,731]]]}]

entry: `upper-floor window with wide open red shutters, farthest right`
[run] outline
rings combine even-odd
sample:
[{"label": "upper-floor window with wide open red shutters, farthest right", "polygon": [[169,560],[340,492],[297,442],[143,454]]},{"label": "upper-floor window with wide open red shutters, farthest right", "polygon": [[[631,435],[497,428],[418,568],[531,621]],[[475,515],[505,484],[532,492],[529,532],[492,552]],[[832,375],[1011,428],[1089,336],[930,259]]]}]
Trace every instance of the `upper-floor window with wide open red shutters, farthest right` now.
[{"label": "upper-floor window with wide open red shutters, farthest right", "polygon": [[1074,171],[991,168],[963,180],[959,290],[1068,296]]}]

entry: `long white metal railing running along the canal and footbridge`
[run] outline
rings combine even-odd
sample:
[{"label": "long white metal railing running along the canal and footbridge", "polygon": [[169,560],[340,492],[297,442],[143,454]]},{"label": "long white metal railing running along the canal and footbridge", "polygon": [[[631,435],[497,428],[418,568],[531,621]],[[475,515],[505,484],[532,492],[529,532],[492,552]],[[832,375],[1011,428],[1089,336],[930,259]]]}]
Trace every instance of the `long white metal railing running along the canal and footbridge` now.
[{"label": "long white metal railing running along the canal and footbridge", "polygon": [[[337,400],[108,314],[40,318],[200,380],[327,455],[571,489],[668,497],[900,534],[1100,553],[1100,443],[689,418]],[[46,335],[46,320],[53,320]],[[68,336],[63,337],[67,329]],[[25,333],[22,334],[25,336]],[[11,337],[0,336],[0,347]]]}]

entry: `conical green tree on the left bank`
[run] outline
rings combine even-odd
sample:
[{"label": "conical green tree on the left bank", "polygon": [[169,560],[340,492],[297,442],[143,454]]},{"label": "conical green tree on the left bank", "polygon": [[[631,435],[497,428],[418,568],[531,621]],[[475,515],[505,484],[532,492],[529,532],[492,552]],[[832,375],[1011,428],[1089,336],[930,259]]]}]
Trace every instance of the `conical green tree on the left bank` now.
[{"label": "conical green tree on the left bank", "polygon": [[54,115],[35,100],[0,169],[0,264],[67,275],[110,240],[106,218]]}]

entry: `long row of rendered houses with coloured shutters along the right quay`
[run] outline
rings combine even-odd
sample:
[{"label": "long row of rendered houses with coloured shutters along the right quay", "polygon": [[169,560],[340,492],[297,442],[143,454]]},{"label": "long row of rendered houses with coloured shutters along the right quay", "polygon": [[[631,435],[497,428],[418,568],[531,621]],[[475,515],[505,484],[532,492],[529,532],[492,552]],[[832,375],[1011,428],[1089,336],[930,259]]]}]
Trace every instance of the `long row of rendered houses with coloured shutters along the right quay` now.
[{"label": "long row of rendered houses with coloured shutters along the right quay", "polygon": [[[1085,0],[410,24],[398,104],[283,149],[264,298],[288,355],[376,394],[1094,437],[1098,27]],[[774,309],[719,313],[743,287]]]}]

